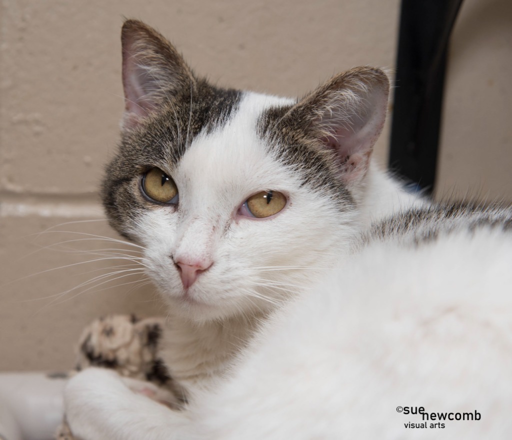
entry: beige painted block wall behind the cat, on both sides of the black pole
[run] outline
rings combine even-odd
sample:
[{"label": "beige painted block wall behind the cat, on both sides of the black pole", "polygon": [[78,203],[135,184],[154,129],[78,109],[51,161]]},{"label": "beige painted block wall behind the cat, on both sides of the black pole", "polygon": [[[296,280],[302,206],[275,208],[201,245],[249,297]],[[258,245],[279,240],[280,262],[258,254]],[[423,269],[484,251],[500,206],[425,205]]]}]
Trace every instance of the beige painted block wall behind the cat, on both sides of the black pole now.
[{"label": "beige painted block wall behind the cat, on both sides of the black pole", "polygon": [[[101,314],[163,313],[153,290],[137,287],[144,280],[135,282],[136,275],[114,280],[110,289],[109,283],[92,288],[106,280],[98,278],[72,290],[127,263],[74,265],[101,257],[76,250],[120,246],[76,240],[94,238],[84,233],[115,237],[101,220],[97,187],[123,109],[122,16],[161,30],[198,73],[219,84],[294,96],[354,65],[393,67],[399,2],[0,5],[0,370],[26,370],[71,367],[80,329]],[[485,193],[512,200],[512,4],[467,0],[462,12],[438,185],[443,193],[483,185]],[[386,131],[376,149],[384,163],[387,141]],[[86,222],[92,218],[100,221]],[[57,226],[65,222],[80,223]],[[61,266],[68,267],[52,270]],[[131,267],[116,270],[123,269]]]}]

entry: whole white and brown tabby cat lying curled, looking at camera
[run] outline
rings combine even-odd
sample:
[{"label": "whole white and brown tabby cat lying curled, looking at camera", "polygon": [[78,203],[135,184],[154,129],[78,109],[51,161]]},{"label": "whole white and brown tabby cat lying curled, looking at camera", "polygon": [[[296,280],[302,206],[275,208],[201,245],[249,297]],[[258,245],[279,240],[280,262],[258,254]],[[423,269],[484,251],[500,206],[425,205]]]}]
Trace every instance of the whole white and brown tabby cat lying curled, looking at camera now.
[{"label": "whole white and brown tabby cat lying curled, looking at camera", "polygon": [[[509,438],[512,216],[429,206],[374,166],[387,76],[353,69],[297,101],[210,85],[140,21],[122,43],[103,199],[168,303],[162,357],[188,403],[84,370],[74,434]],[[407,427],[418,407],[481,416]]]}]

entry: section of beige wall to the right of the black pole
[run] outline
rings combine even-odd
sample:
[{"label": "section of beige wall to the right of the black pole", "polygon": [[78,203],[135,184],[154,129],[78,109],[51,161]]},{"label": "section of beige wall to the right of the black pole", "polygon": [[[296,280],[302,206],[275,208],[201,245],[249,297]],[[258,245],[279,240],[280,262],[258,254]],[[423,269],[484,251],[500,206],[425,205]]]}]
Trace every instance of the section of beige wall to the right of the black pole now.
[{"label": "section of beige wall to the right of the black pole", "polygon": [[512,2],[465,0],[450,47],[437,197],[512,201]]}]

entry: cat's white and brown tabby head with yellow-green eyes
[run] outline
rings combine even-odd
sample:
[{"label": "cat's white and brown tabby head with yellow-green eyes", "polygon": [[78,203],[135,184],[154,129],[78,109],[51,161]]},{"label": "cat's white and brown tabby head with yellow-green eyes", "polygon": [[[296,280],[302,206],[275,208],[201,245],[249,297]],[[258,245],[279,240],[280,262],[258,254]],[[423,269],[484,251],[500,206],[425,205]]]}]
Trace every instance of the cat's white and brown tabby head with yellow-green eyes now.
[{"label": "cat's white and brown tabby head with yellow-green eyes", "polygon": [[170,306],[199,321],[264,311],[330,267],[355,233],[387,76],[357,68],[291,100],[210,85],[140,21],[122,45],[103,200]]}]

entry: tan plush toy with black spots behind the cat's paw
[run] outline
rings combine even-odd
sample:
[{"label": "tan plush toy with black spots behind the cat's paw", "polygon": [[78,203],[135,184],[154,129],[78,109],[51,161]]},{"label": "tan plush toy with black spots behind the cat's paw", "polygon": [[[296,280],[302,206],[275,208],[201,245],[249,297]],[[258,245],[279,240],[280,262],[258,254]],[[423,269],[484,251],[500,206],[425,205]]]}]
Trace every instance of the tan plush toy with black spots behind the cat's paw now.
[{"label": "tan plush toy with black spots behind the cat's paw", "polygon": [[[183,394],[158,357],[162,326],[162,318],[138,319],[134,315],[111,315],[93,321],[80,336],[76,371],[91,366],[113,369],[135,392],[179,407]],[[66,421],[58,428],[56,438],[75,440]]]}]

